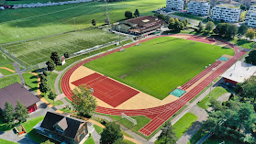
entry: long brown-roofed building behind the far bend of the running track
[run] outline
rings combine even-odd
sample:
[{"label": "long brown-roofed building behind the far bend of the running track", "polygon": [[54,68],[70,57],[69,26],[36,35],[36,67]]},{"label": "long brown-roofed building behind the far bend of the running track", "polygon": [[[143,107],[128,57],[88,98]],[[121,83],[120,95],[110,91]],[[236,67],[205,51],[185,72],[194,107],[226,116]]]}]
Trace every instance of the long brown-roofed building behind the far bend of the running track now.
[{"label": "long brown-roofed building behind the far bend of the running track", "polygon": [[163,24],[164,21],[158,17],[145,16],[122,21],[118,25],[112,26],[112,29],[127,34],[141,35],[153,33],[155,30],[161,28]]}]

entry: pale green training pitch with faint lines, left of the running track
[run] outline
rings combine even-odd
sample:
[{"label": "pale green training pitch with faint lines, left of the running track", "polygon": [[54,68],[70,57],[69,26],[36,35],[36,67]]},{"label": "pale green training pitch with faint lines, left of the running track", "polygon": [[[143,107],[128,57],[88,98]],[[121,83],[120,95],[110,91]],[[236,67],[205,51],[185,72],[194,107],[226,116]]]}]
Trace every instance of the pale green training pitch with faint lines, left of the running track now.
[{"label": "pale green training pitch with faint lines, left of the running track", "polygon": [[4,45],[2,49],[8,50],[9,53],[15,55],[19,60],[28,63],[28,65],[35,65],[39,62],[48,61],[50,53],[55,50],[58,50],[60,53],[69,52],[72,54],[117,39],[119,39],[119,36],[116,34],[100,29],[91,29],[45,39],[31,40],[26,43]]}]

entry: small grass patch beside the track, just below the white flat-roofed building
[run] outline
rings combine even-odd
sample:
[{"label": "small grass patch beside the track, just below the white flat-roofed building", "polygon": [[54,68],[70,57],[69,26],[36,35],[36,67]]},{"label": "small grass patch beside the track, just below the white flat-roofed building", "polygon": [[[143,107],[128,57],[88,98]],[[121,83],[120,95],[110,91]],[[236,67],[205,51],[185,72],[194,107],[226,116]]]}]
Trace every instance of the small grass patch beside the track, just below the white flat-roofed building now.
[{"label": "small grass patch beside the track, just below the white flat-roofed building", "polygon": [[207,94],[206,97],[201,102],[199,102],[197,105],[201,108],[207,109],[207,108],[209,108],[211,98],[214,98],[217,100],[217,98],[219,96],[226,94],[226,93],[228,93],[228,91],[226,89],[224,89],[223,87],[216,87],[214,90],[212,90],[210,98],[208,98],[209,94]]}]

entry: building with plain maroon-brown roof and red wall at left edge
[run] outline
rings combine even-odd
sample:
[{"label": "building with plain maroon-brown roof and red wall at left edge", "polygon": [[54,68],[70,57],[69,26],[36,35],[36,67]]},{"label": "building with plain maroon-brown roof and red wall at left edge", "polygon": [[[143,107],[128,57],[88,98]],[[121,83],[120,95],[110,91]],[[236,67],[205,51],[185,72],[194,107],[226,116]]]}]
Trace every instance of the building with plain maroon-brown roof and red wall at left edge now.
[{"label": "building with plain maroon-brown roof and red wall at left edge", "polygon": [[0,109],[5,108],[6,102],[9,102],[14,107],[20,101],[28,108],[29,113],[38,109],[37,103],[40,101],[37,95],[31,94],[20,83],[10,84],[0,90]]}]

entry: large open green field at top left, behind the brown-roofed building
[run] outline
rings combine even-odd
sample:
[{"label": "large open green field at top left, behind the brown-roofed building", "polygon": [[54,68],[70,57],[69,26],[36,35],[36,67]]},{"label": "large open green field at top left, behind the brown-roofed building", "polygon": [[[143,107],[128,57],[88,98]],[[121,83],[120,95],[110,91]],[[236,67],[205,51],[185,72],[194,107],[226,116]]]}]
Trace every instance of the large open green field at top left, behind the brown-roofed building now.
[{"label": "large open green field at top left, behind the brown-roofed building", "polygon": [[[164,0],[127,0],[109,3],[109,17],[113,22],[125,18],[127,10],[136,8],[143,15],[165,6]],[[33,39],[59,34],[78,28],[91,27],[92,19],[97,26],[104,24],[105,7],[102,2],[89,2],[64,6],[6,9],[0,13],[0,43]],[[75,21],[75,25],[74,25]],[[18,34],[19,38],[18,38]]]}]

